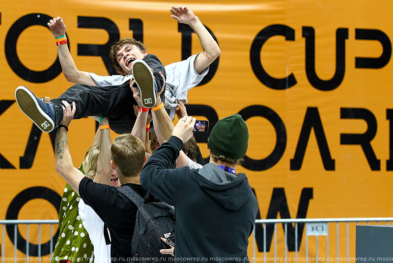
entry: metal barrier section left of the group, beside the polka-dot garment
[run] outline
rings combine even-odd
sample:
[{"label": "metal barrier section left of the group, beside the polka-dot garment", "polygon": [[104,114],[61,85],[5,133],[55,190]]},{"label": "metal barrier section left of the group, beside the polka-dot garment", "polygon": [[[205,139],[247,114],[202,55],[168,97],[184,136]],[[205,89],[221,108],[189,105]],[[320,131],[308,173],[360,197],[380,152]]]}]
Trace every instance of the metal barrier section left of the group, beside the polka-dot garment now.
[{"label": "metal barrier section left of the group, beside the polka-dot garment", "polygon": [[[21,235],[19,234],[18,231],[18,226],[19,225],[26,225],[26,262],[28,263],[29,261],[29,251],[30,251],[30,240],[29,240],[29,226],[30,225],[38,225],[38,244],[37,244],[37,257],[38,257],[38,262],[41,262],[41,226],[43,224],[49,224],[50,225],[50,237],[49,237],[49,254],[52,255],[53,253],[53,244],[56,242],[54,241],[54,233],[53,233],[53,227],[54,225],[58,225],[58,220],[0,220],[0,225],[2,225],[2,245],[1,245],[1,262],[5,263],[5,226],[7,225],[7,232],[8,235],[10,236],[11,228],[13,225],[13,245],[14,245],[14,263],[18,262],[18,257],[17,257],[17,250],[18,250],[18,237],[21,239]],[[10,226],[11,228],[9,228]],[[11,240],[12,241],[12,240]],[[9,250],[8,250],[9,251]]]}]

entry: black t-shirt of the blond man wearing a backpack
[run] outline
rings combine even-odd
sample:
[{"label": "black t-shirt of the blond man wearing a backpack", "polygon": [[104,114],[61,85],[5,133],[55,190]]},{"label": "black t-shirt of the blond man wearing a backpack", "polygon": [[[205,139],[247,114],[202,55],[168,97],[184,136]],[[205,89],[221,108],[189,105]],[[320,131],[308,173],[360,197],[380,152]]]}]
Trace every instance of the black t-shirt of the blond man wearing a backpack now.
[{"label": "black t-shirt of the blond man wearing a backpack", "polygon": [[[140,184],[123,184],[133,188],[142,198],[147,191]],[[111,261],[127,261],[132,258],[131,242],[138,208],[116,187],[97,184],[88,178],[79,184],[79,195],[102,219],[111,233]],[[116,258],[116,260],[113,260]]]}]

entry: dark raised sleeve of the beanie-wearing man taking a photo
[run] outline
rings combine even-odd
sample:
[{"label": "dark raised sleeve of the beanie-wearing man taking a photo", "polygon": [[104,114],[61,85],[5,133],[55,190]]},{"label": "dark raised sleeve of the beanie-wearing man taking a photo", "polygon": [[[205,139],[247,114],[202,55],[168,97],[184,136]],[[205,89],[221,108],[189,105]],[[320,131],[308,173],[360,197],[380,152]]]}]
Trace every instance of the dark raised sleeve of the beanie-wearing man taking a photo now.
[{"label": "dark raised sleeve of the beanie-wearing man taking a photo", "polygon": [[169,169],[183,149],[183,142],[171,136],[149,158],[140,172],[140,184],[155,197],[174,205],[179,180],[184,178],[189,167]]}]

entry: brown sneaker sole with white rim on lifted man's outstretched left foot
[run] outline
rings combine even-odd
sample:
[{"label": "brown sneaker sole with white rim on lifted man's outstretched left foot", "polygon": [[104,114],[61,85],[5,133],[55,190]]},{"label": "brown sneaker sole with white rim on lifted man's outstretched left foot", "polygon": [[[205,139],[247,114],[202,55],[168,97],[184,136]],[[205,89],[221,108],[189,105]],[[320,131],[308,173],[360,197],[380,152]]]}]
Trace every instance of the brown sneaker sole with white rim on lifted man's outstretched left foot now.
[{"label": "brown sneaker sole with white rim on lifted man's outstretched left foot", "polygon": [[15,90],[15,98],[23,113],[43,132],[52,132],[55,124],[38,105],[35,96],[24,86]]}]

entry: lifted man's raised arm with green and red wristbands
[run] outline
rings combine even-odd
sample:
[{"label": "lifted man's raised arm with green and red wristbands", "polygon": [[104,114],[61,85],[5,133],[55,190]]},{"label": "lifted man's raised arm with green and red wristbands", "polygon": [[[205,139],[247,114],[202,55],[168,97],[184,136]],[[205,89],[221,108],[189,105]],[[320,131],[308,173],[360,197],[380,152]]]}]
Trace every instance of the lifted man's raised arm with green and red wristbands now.
[{"label": "lifted man's raised arm with green and red wristbands", "polygon": [[71,53],[68,49],[67,43],[63,41],[64,38],[61,38],[61,36],[65,36],[65,25],[63,19],[61,17],[53,18],[48,22],[48,26],[49,29],[51,29],[52,34],[56,38],[56,43],[61,43],[56,44],[57,54],[65,79],[75,84],[79,83],[96,86],[93,79],[91,79],[90,75],[87,72],[78,70],[77,66],[75,65],[74,59],[72,58]]}]

